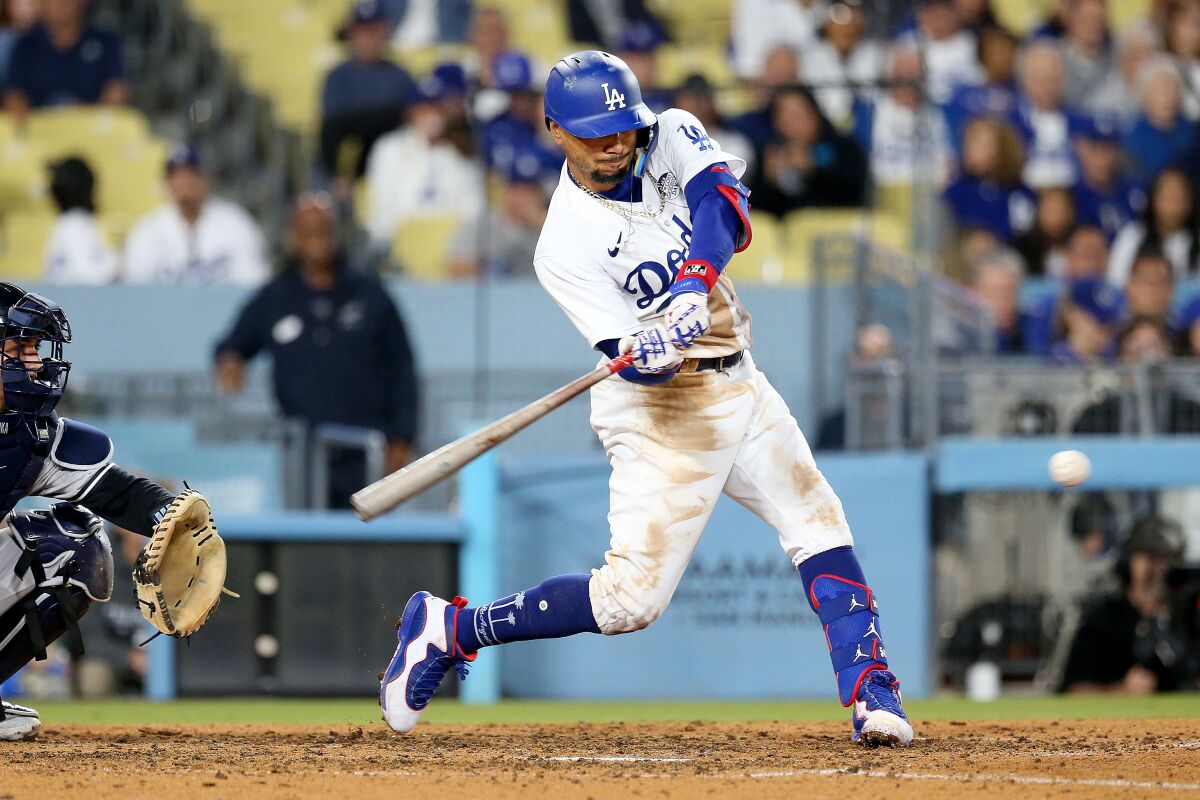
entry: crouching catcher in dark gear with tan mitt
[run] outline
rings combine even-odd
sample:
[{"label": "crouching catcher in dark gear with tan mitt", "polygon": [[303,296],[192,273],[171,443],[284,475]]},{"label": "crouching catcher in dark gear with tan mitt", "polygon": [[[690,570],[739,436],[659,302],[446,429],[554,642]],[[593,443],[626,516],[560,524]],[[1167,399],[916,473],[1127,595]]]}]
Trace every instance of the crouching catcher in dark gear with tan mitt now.
[{"label": "crouching catcher in dark gear with tan mitt", "polygon": [[[96,515],[151,537],[134,569],[143,615],[169,636],[196,632],[226,576],[208,501],[130,475],[102,431],[54,414],[71,368],[71,325],[56,303],[0,283],[0,684],[64,633],[83,652],[77,621],[113,593]],[[29,495],[65,503],[13,511]],[[36,711],[0,699],[0,740],[34,739],[41,727]]]}]

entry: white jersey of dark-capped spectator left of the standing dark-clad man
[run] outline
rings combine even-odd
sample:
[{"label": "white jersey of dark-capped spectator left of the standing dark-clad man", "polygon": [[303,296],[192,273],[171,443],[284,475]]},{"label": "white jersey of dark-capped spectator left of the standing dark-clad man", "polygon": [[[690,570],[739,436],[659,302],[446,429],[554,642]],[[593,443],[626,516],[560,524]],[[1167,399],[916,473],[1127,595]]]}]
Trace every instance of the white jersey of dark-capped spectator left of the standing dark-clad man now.
[{"label": "white jersey of dark-capped spectator left of the standing dark-clad man", "polygon": [[164,205],[138,219],[125,245],[122,279],[130,283],[235,283],[270,277],[266,242],[241,206],[209,198],[194,225]]}]

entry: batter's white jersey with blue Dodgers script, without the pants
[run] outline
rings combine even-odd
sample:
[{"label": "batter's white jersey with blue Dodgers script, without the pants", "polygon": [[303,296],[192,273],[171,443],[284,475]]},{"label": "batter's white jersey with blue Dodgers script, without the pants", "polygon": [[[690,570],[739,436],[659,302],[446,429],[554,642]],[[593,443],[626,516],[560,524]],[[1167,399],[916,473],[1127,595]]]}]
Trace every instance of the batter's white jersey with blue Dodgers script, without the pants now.
[{"label": "batter's white jersey with blue Dodgers script, without the pants", "polygon": [[[617,102],[611,96],[610,102]],[[738,178],[746,162],[721,150],[694,115],[672,108],[659,115],[658,142],[642,176],[638,209],[654,217],[622,215],[580,188],[563,164],[538,240],[534,269],[542,287],[587,338],[635,333],[666,308],[671,283],[691,247],[691,211],[684,187],[707,167],[725,162]],[[660,200],[661,197],[661,200]],[[626,204],[628,205],[628,204]],[[709,293],[709,332],[689,357],[730,355],[750,348],[750,315],[721,276]]]}]

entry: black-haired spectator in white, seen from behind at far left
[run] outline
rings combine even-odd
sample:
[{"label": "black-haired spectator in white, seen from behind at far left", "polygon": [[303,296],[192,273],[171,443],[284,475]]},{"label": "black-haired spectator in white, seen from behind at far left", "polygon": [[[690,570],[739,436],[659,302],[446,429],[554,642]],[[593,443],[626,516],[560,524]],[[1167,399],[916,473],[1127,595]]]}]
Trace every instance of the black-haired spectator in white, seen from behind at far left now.
[{"label": "black-haired spectator in white, seen from behind at far left", "polygon": [[71,156],[50,167],[50,197],[59,207],[46,242],[47,283],[112,283],[116,254],[96,222],[96,176],[83,158]]}]

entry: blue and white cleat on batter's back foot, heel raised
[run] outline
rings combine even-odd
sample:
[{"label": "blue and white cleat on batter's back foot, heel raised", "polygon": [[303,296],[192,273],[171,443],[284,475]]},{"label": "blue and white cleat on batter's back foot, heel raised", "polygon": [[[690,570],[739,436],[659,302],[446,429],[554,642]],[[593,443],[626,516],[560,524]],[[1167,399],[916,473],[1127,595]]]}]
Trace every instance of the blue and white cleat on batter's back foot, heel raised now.
[{"label": "blue and white cleat on batter's back foot, heel raised", "polygon": [[464,597],[446,602],[427,591],[418,591],[396,625],[396,652],[379,679],[379,708],[388,726],[408,733],[438,691],[450,667],[467,678],[467,663],[475,660],[455,640],[458,612]]}]

